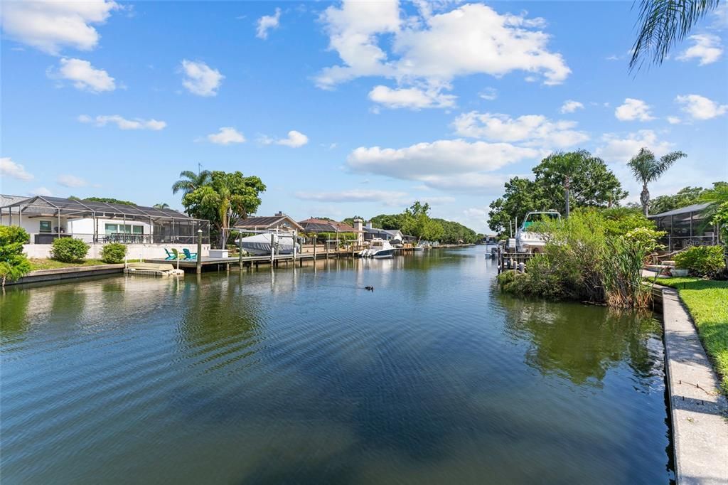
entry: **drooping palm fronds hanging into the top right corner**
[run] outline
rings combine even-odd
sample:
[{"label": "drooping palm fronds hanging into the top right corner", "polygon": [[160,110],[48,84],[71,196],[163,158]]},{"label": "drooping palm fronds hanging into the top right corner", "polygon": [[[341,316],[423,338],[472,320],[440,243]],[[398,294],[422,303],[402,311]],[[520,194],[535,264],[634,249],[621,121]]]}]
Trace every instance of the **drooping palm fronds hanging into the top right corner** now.
[{"label": "drooping palm fronds hanging into the top right corner", "polygon": [[721,0],[641,0],[637,21],[641,26],[632,47],[630,70],[639,68],[645,56],[661,64],[698,20],[717,9],[720,3]]}]

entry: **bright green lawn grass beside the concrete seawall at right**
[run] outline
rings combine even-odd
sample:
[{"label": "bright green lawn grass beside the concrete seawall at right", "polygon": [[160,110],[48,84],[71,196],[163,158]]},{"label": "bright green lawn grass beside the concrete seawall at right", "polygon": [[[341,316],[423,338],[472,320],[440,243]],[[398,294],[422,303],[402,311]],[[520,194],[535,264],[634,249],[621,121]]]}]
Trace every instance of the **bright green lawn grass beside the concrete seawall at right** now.
[{"label": "bright green lawn grass beside the concrete seawall at right", "polygon": [[674,277],[657,284],[677,288],[728,395],[728,281]]}]

